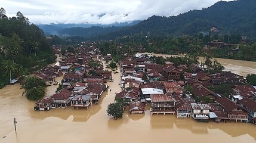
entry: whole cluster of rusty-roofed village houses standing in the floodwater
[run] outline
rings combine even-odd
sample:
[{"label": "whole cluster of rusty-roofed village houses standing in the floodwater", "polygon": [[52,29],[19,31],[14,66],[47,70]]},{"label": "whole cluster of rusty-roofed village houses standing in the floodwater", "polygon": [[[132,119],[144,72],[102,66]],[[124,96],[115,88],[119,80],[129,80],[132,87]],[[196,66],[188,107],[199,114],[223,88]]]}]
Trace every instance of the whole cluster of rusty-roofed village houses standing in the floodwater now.
[{"label": "whole cluster of rusty-roofed village houses standing in the floodwater", "polygon": [[[60,66],[48,66],[35,73],[53,83],[55,77],[64,74],[63,88],[36,102],[35,110],[66,108],[69,105],[88,109],[93,103],[98,104],[108,88],[104,83],[112,81],[115,73],[104,70],[101,61],[112,61],[112,57],[110,54],[101,55],[95,45],[93,42],[84,43],[75,48],[76,54],[66,52],[61,55]],[[60,54],[60,49],[55,47],[55,54]],[[193,117],[199,122],[256,123],[256,89],[245,84],[243,76],[230,71],[209,74],[195,64],[192,67],[184,64],[175,66],[171,62],[156,64],[150,57],[153,55],[135,54],[119,61],[122,91],[116,93],[115,100],[125,99],[129,113],[144,114],[145,107],[150,106],[152,114],[171,113],[178,118]],[[193,73],[186,72],[187,68],[194,69]],[[224,96],[209,88],[224,84],[232,86],[232,94]],[[186,91],[186,86],[191,86],[193,92]],[[202,98],[211,102],[198,100]]]}]

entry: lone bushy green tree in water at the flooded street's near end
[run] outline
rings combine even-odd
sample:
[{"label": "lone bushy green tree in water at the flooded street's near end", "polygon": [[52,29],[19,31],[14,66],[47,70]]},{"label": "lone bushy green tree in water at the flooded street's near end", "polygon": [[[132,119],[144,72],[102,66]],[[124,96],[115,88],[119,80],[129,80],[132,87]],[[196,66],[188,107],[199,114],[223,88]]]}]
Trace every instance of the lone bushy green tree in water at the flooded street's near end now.
[{"label": "lone bushy green tree in water at the flooded street's near end", "polygon": [[114,119],[122,118],[124,114],[125,102],[123,99],[119,99],[114,103],[110,103],[107,106],[107,115],[114,117]]}]

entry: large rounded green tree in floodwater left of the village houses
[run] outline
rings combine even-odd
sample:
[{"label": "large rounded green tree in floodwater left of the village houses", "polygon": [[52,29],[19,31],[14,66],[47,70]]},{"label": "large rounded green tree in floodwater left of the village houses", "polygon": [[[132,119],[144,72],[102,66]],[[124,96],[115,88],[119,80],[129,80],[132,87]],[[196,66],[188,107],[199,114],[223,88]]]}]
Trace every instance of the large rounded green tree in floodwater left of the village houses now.
[{"label": "large rounded green tree in floodwater left of the village houses", "polygon": [[34,76],[28,76],[21,88],[25,89],[28,100],[38,101],[44,97],[46,86],[44,80]]}]

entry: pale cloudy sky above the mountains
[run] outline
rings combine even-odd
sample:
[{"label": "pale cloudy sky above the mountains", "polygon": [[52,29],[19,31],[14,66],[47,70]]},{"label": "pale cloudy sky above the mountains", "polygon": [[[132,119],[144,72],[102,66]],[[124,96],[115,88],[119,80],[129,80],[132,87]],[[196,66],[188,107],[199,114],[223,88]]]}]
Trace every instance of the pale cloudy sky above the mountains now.
[{"label": "pale cloudy sky above the mountains", "polygon": [[[220,0],[1,0],[13,17],[20,11],[31,23],[112,24],[202,10]],[[231,0],[225,0],[231,1]]]}]

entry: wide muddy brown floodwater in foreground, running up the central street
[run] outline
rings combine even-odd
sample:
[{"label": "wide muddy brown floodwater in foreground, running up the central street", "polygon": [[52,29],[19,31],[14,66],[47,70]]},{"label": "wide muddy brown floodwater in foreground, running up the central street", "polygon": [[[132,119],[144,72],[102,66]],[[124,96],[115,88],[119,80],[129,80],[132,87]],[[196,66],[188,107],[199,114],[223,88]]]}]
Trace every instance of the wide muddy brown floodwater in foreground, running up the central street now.
[{"label": "wide muddy brown floodwater in foreground, running up the central street", "polygon": [[[121,73],[113,79],[107,83],[112,91],[104,92],[99,104],[88,110],[34,111],[35,102],[22,96],[18,84],[0,89],[0,142],[256,142],[256,126],[249,123],[199,123],[174,114],[151,115],[149,107],[146,114],[129,114],[126,108],[122,119],[113,120],[106,110],[115,92],[121,91]],[[48,86],[47,94],[56,88]]]}]

